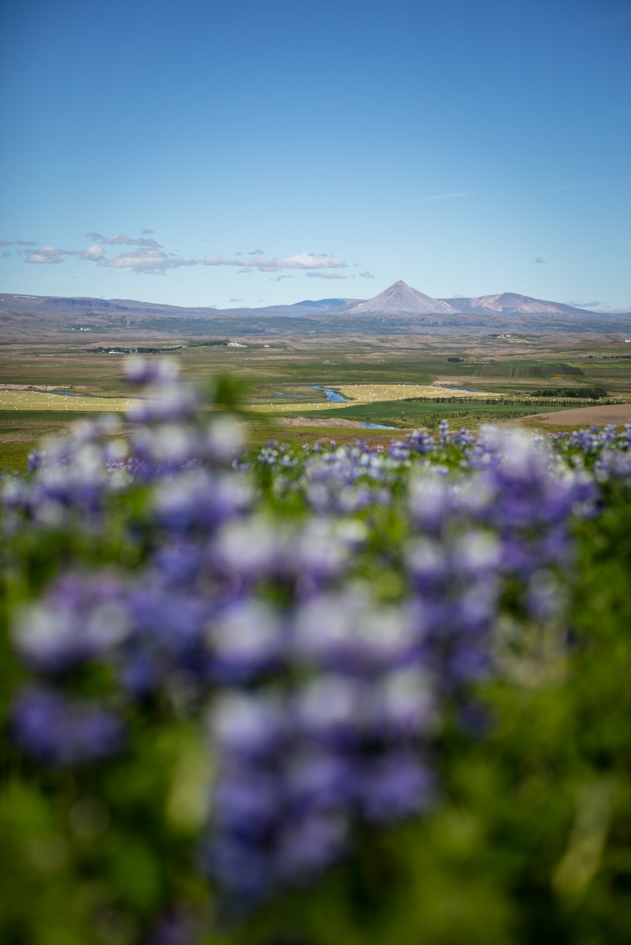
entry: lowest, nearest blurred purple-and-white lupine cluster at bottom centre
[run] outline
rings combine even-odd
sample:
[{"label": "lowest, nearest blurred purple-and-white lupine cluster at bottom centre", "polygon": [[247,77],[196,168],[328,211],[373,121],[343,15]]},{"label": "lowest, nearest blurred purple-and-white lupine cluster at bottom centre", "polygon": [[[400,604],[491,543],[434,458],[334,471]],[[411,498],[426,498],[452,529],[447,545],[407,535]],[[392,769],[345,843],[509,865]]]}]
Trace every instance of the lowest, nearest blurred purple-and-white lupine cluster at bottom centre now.
[{"label": "lowest, nearest blurred purple-and-white lupine cluster at bottom centre", "polygon": [[211,713],[208,856],[239,902],[303,884],[359,822],[417,814],[434,787],[436,705],[412,614],[376,608],[358,587],[310,595],[275,632],[260,623],[269,645],[247,667],[228,660],[234,681]]}]

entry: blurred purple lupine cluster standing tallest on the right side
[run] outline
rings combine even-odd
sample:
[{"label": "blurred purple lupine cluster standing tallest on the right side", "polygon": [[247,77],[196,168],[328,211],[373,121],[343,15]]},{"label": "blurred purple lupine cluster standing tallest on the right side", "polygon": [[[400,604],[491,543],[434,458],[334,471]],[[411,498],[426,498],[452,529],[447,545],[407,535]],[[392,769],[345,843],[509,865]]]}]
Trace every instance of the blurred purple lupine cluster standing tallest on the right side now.
[{"label": "blurred purple lupine cluster standing tallest on the right side", "polygon": [[471,684],[497,672],[494,631],[508,590],[521,623],[562,609],[556,576],[569,578],[570,523],[596,495],[591,477],[561,474],[541,444],[487,431],[477,446],[471,472],[412,477],[416,534],[405,558],[429,666],[464,713]]}]

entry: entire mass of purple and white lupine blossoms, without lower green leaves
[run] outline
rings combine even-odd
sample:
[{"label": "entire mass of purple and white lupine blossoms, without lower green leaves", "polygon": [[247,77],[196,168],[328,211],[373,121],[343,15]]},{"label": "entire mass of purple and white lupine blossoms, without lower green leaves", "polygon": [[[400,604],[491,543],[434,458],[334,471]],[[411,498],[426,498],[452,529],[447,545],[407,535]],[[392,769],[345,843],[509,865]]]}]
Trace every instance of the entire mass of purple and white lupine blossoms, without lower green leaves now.
[{"label": "entire mass of purple and white lupine blossoms, without lower green leaves", "polygon": [[[141,509],[120,520],[131,573],[74,560],[18,610],[29,681],[13,737],[67,767],[127,750],[148,706],[205,719],[204,859],[256,902],[307,882],[366,824],[439,798],[442,720],[500,672],[509,611],[517,626],[563,620],[571,524],[600,481],[631,473],[631,426],[551,443],[441,421],[387,449],[270,442],[248,459],[238,425],[203,414],[169,363],[128,377],[148,385],[131,434],[81,424],[2,483],[8,534],[72,524],[96,544],[115,497]],[[78,680],[95,666],[109,681],[88,698]]]}]

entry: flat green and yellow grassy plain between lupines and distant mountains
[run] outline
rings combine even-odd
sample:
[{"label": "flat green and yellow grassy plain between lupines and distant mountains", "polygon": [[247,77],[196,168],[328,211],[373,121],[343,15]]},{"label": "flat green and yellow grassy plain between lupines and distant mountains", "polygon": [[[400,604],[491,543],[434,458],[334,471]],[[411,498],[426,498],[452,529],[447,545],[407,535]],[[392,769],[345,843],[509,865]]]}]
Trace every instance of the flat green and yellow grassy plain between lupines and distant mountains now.
[{"label": "flat green and yellow grassy plain between lupines and distant mountains", "polygon": [[[521,422],[542,410],[534,410],[525,400],[523,405],[498,405],[483,404],[477,397],[459,404],[403,399],[417,395],[420,388],[422,396],[428,396],[428,388],[435,395],[437,386],[474,387],[494,398],[526,399],[551,387],[574,387],[580,392],[598,385],[610,396],[631,400],[631,358],[622,335],[524,335],[528,344],[512,344],[494,335],[257,333],[231,338],[245,347],[189,346],[211,337],[169,334],[162,343],[165,347],[184,344],[176,355],[184,377],[203,383],[228,373],[241,385],[242,403],[253,406],[257,417],[248,427],[253,443],[269,438],[342,442],[358,437],[388,442],[394,435],[390,431],[368,430],[361,422],[400,429],[433,428],[446,417],[454,426],[475,428],[482,422]],[[96,333],[89,341],[52,333],[37,340],[20,336],[0,341],[0,388],[46,388],[28,393],[15,388],[0,391],[0,469],[24,468],[27,453],[41,438],[61,432],[67,423],[89,416],[96,408],[123,404],[101,399],[130,398],[121,378],[123,357],[90,351],[102,344],[103,338]],[[107,345],[144,344],[160,346],[161,341],[154,332],[143,335],[138,330],[107,336]],[[462,360],[453,360],[458,358]],[[350,393],[352,403],[331,409],[324,391],[309,386],[335,387]],[[91,396],[60,397],[54,390]],[[454,393],[465,397],[464,391]],[[16,410],[19,403],[28,404],[28,409]],[[557,407],[545,408],[547,413],[553,409]],[[295,420],[280,420],[279,414]],[[345,424],[337,422],[341,420]],[[530,426],[533,421],[523,422]]]}]

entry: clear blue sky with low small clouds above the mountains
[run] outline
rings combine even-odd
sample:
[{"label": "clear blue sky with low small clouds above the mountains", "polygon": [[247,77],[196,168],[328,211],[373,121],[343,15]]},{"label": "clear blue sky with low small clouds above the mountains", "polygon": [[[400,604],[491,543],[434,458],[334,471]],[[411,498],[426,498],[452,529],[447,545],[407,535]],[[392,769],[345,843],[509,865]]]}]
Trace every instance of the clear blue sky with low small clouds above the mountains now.
[{"label": "clear blue sky with low small clouds above the mountains", "polygon": [[631,308],[630,0],[8,0],[0,33],[0,291]]}]

